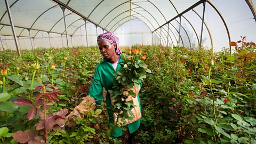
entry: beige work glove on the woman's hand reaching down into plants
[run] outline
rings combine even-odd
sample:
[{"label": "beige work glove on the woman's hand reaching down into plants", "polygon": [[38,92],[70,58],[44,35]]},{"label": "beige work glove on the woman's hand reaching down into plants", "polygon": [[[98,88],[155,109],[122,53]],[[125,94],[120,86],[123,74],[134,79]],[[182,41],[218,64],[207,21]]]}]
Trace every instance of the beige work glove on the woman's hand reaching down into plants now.
[{"label": "beige work glove on the woman's hand reaching down into plants", "polygon": [[[95,109],[95,100],[94,98],[90,97],[87,95],[86,97],[83,97],[83,101],[79,103],[78,106],[76,106],[73,111],[67,116],[68,121],[66,122],[67,126],[75,126],[76,119],[73,117],[75,116],[76,118],[81,118],[83,119],[84,115],[89,114],[91,110]],[[80,111],[83,111],[84,114],[80,113]]]}]

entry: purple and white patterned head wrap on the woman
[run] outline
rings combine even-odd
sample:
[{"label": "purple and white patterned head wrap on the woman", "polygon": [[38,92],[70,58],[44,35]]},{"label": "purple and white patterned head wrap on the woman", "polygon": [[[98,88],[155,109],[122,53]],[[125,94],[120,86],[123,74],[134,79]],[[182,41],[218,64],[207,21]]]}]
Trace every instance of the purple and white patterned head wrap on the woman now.
[{"label": "purple and white patterned head wrap on the woman", "polygon": [[115,44],[117,55],[122,53],[122,51],[120,50],[120,48],[118,46],[119,45],[119,39],[113,33],[108,31],[107,33],[100,34],[97,38],[97,42],[99,42],[101,39],[104,39],[104,40],[108,41],[111,44]]}]

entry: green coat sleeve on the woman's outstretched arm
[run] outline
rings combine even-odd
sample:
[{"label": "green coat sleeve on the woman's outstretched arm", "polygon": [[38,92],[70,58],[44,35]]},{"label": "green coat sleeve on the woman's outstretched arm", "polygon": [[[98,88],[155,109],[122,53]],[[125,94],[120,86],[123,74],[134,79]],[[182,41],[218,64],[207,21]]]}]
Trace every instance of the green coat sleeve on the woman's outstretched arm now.
[{"label": "green coat sleeve on the woman's outstretched arm", "polygon": [[95,69],[92,84],[89,89],[89,95],[90,97],[93,97],[95,100],[100,100],[96,102],[96,105],[100,105],[102,99],[103,99],[103,85],[101,84],[100,81],[100,74],[98,67]]}]

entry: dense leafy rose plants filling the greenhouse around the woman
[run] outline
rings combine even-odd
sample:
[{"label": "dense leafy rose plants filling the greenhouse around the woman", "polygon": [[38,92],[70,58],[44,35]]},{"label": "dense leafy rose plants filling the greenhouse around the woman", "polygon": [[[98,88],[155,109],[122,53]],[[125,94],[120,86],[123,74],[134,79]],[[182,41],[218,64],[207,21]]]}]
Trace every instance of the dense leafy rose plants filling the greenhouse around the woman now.
[{"label": "dense leafy rose plants filling the greenhouse around the woman", "polygon": [[[133,46],[145,55],[140,59],[146,58],[147,66],[137,61],[138,66],[151,69],[139,93],[142,118],[136,141],[255,143],[256,50],[241,38],[230,43],[232,54],[228,49]],[[128,49],[122,50],[130,58]],[[87,95],[102,60],[98,47],[21,53],[0,52],[0,142],[124,142],[110,135],[105,102],[77,119],[76,126],[63,126]]]}]

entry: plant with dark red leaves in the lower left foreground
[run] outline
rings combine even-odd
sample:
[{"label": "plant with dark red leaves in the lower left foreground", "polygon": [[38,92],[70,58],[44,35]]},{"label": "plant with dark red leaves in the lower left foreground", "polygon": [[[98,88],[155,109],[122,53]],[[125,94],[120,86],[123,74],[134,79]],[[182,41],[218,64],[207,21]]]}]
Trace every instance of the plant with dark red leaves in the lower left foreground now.
[{"label": "plant with dark red leaves in the lower left foreground", "polygon": [[[20,143],[47,143],[48,135],[47,132],[49,130],[60,130],[61,126],[65,124],[63,119],[67,119],[66,115],[68,114],[68,109],[61,109],[57,113],[49,113],[46,114],[46,110],[50,108],[50,106],[46,105],[47,100],[54,104],[54,99],[59,101],[58,95],[61,94],[60,91],[57,91],[53,86],[39,85],[35,88],[35,91],[39,90],[41,93],[37,94],[35,97],[35,102],[33,103],[31,100],[20,98],[17,100],[13,100],[18,106],[29,106],[31,107],[28,110],[28,120],[34,119],[38,113],[41,118],[36,124],[36,131],[38,135],[36,135],[36,131],[27,130],[27,131],[17,131],[12,137],[20,142]],[[45,138],[45,140],[43,140]]]}]

